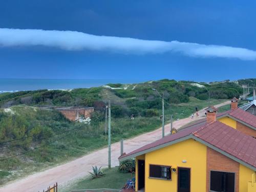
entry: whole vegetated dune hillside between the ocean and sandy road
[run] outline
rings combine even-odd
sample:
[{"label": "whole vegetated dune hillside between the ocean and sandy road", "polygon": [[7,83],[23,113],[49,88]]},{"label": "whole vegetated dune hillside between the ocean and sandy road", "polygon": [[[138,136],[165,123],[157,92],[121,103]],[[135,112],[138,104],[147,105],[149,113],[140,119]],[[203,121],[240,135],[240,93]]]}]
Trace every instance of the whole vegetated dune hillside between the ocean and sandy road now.
[{"label": "whole vegetated dune hillside between the ocean and sandy road", "polygon": [[[163,79],[138,84],[108,84],[72,91],[23,91],[0,95],[0,184],[42,168],[82,156],[107,144],[104,135],[104,107],[112,103],[112,142],[130,138],[161,125],[161,99],[152,89],[164,93],[166,121],[181,119],[223,99],[239,96],[234,82],[216,84]],[[94,106],[91,124],[70,122],[57,111],[36,105]],[[8,109],[7,109],[8,107]],[[131,120],[131,114],[135,119]],[[22,139],[25,138],[25,139]],[[15,140],[7,142],[9,140]]]}]

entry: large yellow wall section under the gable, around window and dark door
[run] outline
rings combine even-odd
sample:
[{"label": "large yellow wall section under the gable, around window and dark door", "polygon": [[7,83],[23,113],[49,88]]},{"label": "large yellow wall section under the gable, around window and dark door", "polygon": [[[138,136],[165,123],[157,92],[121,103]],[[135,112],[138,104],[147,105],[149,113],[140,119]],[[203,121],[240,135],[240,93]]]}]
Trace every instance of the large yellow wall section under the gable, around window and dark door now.
[{"label": "large yellow wall section under the gable, around window and dark door", "polygon": [[[182,163],[186,160],[186,163]],[[193,140],[176,143],[145,154],[145,192],[177,191],[177,173],[172,172],[172,180],[150,179],[149,165],[159,164],[172,167],[189,167],[191,191],[206,190],[206,146]]]}]

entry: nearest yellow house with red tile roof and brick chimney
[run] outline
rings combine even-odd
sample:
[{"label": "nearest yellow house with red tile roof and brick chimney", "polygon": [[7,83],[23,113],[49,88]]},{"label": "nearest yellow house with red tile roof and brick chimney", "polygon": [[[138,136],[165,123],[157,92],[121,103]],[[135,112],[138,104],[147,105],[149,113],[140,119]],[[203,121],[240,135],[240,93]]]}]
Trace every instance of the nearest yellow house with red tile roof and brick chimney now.
[{"label": "nearest yellow house with red tile roof and brick chimney", "polygon": [[256,192],[256,139],[229,126],[226,117],[208,108],[207,122],[119,157],[136,158],[136,191]]}]

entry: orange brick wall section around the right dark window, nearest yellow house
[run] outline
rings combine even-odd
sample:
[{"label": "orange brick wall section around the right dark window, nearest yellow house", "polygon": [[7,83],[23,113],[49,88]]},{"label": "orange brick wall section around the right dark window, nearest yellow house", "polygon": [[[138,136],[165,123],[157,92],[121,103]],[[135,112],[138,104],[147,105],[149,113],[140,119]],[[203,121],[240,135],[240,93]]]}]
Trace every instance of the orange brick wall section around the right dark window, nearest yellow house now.
[{"label": "orange brick wall section around the right dark window, nearest yellow house", "polygon": [[235,191],[239,192],[239,163],[207,147],[206,191],[210,187],[210,170],[235,173]]}]

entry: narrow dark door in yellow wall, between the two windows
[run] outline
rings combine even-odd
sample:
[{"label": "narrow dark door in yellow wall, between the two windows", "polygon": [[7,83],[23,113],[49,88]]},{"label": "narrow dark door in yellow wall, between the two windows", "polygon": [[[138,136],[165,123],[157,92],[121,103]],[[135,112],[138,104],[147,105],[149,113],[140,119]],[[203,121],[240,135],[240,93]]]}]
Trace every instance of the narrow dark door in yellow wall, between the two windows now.
[{"label": "narrow dark door in yellow wall, between the two windows", "polygon": [[178,192],[190,192],[190,168],[178,168]]}]

